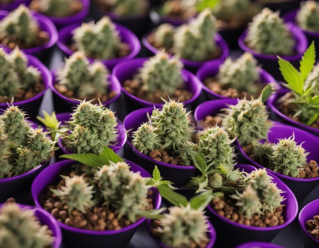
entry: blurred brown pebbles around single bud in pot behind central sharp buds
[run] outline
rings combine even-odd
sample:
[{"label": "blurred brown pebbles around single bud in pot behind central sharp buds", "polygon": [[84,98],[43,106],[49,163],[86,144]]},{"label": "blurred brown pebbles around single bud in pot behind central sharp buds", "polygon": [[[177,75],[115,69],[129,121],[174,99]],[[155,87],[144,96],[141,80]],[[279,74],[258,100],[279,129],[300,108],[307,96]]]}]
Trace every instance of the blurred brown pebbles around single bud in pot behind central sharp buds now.
[{"label": "blurred brown pebbles around single bud in pot behind central sharp buds", "polygon": [[182,87],[178,88],[174,92],[174,94],[168,95],[167,92],[161,92],[160,90],[154,93],[148,93],[146,90],[142,89],[142,86],[143,83],[139,78],[125,80],[123,84],[124,89],[128,93],[144,101],[153,103],[163,103],[163,100],[161,98],[164,98],[166,101],[169,101],[169,99],[171,99],[172,101],[184,102],[193,97],[193,94],[191,92],[185,90]]}]

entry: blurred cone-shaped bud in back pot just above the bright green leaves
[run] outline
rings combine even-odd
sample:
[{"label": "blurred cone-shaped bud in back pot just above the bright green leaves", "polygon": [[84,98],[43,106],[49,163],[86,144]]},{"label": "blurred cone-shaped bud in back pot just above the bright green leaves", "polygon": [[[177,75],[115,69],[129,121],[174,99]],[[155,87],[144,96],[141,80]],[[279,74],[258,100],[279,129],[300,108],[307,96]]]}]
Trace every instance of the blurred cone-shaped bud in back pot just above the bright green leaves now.
[{"label": "blurred cone-shaped bud in back pot just above the bright green leaves", "polygon": [[292,55],[295,41],[279,12],[264,8],[249,24],[245,40],[258,53]]}]

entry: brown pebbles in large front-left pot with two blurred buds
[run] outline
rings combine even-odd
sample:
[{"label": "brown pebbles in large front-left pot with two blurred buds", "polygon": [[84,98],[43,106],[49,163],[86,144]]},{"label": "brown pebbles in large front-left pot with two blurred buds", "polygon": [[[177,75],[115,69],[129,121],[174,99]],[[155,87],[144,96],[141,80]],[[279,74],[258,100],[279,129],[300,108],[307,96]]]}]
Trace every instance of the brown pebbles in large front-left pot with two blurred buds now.
[{"label": "brown pebbles in large front-left pot with two blurred buds", "polygon": [[[61,175],[66,175],[73,177],[76,175],[74,170],[62,171]],[[79,174],[78,174],[79,175]],[[93,179],[93,175],[89,173],[82,173],[82,176],[85,178],[85,181]],[[59,200],[59,197],[56,194],[53,194],[50,189],[61,189],[62,186],[65,186],[65,180],[61,179],[56,184],[49,185],[45,192],[44,197],[41,201],[42,206],[45,210],[50,212],[59,222],[62,222],[68,226],[89,229],[96,231],[104,230],[119,230],[123,227],[126,227],[132,224],[128,219],[122,217],[121,219],[116,218],[114,210],[108,209],[102,204],[98,204],[95,207],[86,208],[86,214],[79,212],[78,210],[73,209],[71,215],[68,213],[68,207]],[[144,209],[153,209],[153,200],[152,200],[153,191],[149,190],[148,196],[145,199],[148,203]],[[138,217],[139,220],[141,217]]]}]

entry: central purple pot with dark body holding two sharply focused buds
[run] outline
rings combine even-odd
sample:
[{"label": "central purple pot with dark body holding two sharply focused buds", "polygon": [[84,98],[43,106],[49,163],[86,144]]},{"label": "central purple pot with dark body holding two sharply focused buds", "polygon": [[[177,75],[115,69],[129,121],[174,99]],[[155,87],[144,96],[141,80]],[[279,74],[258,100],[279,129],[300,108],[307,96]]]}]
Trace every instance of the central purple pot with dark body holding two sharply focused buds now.
[{"label": "central purple pot with dark body holding two sharply focused buds", "polygon": [[[132,150],[133,153],[137,155],[136,159],[138,160],[138,163],[143,166],[144,169],[152,172],[155,165],[157,165],[163,178],[173,182],[175,187],[181,187],[189,182],[191,177],[198,176],[199,170],[193,166],[172,165],[164,162],[158,162],[151,157],[141,153],[131,144],[132,132],[136,131],[143,122],[148,121],[147,113],[151,115],[153,109],[153,107],[137,109],[125,117],[123,122],[124,128],[126,130],[130,130],[128,134],[129,139],[126,143],[130,147],[130,150]],[[178,175],[178,177],[176,177],[176,175]]]}]

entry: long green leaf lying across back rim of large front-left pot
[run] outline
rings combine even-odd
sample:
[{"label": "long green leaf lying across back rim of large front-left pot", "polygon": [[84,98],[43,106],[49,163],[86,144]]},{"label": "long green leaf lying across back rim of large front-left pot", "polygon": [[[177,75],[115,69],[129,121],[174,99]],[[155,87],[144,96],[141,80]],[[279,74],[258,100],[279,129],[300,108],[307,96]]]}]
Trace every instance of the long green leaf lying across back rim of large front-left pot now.
[{"label": "long green leaf lying across back rim of large front-left pot", "polygon": [[100,167],[103,165],[109,165],[110,161],[114,163],[124,161],[122,158],[119,157],[119,155],[117,155],[111,148],[107,146],[103,147],[103,151],[100,152],[99,155],[92,154],[92,153],[88,153],[88,154],[74,153],[74,154],[64,154],[60,156],[60,158],[72,159],[94,168]]}]

